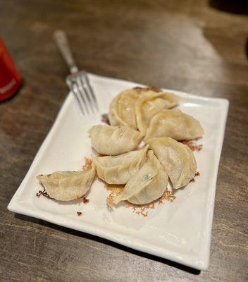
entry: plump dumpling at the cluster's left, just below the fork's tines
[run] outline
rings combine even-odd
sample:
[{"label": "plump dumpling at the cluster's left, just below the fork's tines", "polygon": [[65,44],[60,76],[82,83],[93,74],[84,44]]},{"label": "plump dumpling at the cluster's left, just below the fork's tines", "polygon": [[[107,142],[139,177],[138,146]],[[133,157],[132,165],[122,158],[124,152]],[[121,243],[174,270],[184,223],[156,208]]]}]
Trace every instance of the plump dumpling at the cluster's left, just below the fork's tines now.
[{"label": "plump dumpling at the cluster's left, just below the fork's tines", "polygon": [[142,134],[128,126],[94,125],[89,129],[92,147],[99,154],[117,155],[137,148]]}]

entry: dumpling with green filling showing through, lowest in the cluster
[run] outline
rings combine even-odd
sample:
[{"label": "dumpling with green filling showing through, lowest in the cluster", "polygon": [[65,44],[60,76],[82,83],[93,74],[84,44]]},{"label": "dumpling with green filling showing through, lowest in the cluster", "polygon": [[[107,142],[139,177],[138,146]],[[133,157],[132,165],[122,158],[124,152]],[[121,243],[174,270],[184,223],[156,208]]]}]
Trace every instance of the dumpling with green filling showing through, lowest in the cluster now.
[{"label": "dumpling with green filling showing through, lowest in the cluster", "polygon": [[113,199],[113,204],[128,200],[132,204],[148,204],[163,195],[167,188],[168,176],[151,150],[147,161]]}]

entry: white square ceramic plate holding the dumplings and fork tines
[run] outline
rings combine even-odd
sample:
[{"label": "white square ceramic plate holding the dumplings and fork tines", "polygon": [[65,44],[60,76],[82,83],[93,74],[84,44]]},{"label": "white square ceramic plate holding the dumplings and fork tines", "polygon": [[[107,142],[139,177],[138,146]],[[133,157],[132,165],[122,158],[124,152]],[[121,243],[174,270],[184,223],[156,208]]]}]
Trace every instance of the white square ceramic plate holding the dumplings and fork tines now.
[{"label": "white square ceramic plate holding the dumplings and fork tines", "polygon": [[[89,78],[97,94],[101,114],[108,112],[109,103],[118,92],[139,86],[134,82],[97,75],[89,75]],[[40,189],[35,176],[53,171],[79,170],[84,163],[83,157],[90,157],[92,150],[87,130],[101,123],[101,116],[82,118],[70,93],[8,209],[195,269],[207,269],[216,178],[229,103],[225,99],[172,92],[182,97],[180,109],[197,118],[205,131],[204,137],[199,140],[203,144],[202,151],[194,152],[200,176],[185,189],[178,190],[174,202],[157,205],[147,217],[139,216],[124,206],[111,212],[106,205],[109,191],[98,180],[92,185],[87,204],[61,204],[35,196]],[[77,216],[77,211],[82,211],[82,216]]]}]

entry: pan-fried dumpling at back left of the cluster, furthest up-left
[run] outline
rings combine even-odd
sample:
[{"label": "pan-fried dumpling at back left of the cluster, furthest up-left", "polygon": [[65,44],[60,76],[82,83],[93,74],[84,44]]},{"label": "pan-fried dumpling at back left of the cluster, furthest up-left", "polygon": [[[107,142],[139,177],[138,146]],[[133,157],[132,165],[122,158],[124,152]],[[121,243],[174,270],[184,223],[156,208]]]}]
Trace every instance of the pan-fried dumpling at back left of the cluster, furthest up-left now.
[{"label": "pan-fried dumpling at back left of the cluster, furthest up-left", "polygon": [[111,125],[126,125],[137,129],[135,118],[135,102],[139,97],[135,89],[120,92],[109,106],[109,122]]}]

